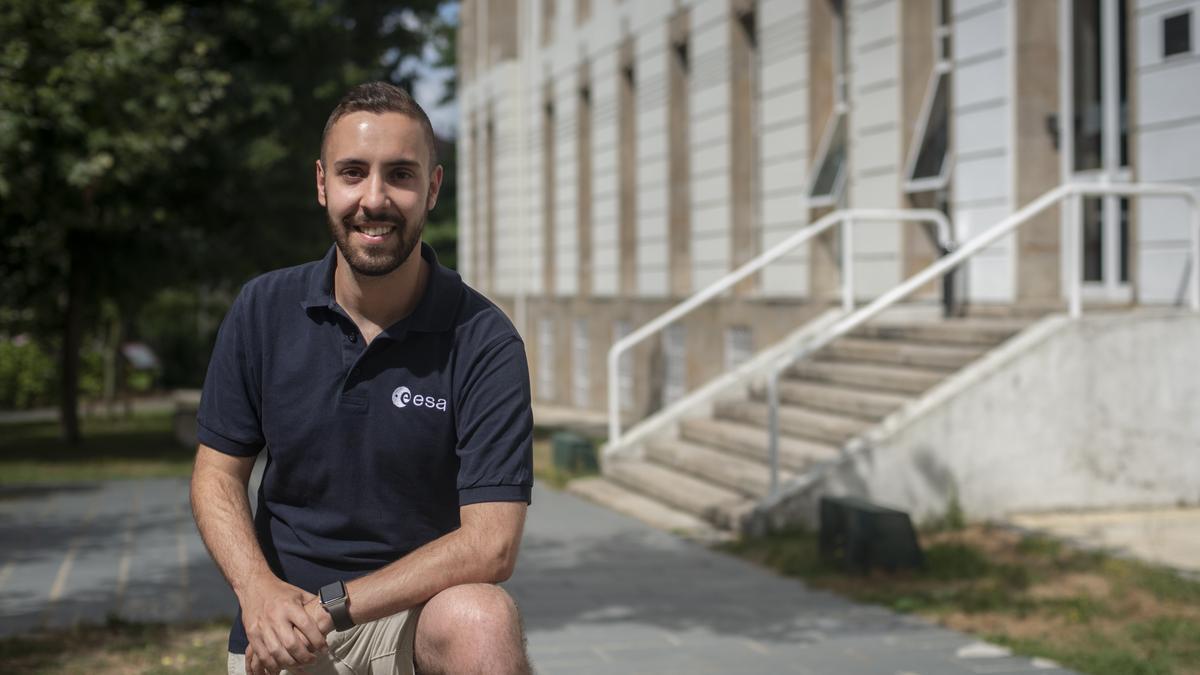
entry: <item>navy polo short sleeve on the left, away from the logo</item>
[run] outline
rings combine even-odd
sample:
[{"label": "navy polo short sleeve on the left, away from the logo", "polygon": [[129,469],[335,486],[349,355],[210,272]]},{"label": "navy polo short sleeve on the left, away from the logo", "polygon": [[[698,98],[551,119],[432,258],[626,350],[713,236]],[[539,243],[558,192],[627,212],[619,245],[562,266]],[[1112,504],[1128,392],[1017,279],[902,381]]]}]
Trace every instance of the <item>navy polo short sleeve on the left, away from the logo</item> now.
[{"label": "navy polo short sleeve on the left, away from the logo", "polygon": [[253,456],[265,444],[247,295],[242,288],[221,322],[196,416],[197,440],[235,456]]}]

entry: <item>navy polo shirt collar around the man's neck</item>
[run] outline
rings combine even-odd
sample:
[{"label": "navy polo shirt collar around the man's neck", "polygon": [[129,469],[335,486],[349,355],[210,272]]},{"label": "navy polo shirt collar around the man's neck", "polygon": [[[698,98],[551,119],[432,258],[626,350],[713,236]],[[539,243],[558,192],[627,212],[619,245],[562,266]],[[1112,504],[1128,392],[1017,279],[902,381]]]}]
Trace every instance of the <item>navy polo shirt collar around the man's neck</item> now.
[{"label": "navy polo shirt collar around the man's neck", "polygon": [[[433,247],[421,241],[421,257],[430,263],[430,279],[416,309],[384,333],[420,330],[440,333],[454,325],[462,294],[462,277],[452,269],[443,267]],[[331,245],[325,257],[317,263],[308,277],[307,293],[301,305],[305,310],[326,309],[338,311],[334,300],[334,269],[337,267],[337,245]]]}]

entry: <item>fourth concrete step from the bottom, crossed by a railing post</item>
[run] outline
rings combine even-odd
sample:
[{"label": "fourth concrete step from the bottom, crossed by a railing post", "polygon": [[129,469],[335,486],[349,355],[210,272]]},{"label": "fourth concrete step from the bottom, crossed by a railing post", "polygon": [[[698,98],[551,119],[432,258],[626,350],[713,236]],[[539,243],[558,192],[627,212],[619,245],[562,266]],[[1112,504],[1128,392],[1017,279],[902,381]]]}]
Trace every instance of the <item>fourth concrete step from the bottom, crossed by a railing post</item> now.
[{"label": "fourth concrete step from the bottom, crossed by a railing post", "polygon": [[[768,461],[766,426],[706,417],[682,420],[679,436],[737,453],[763,465]],[[836,459],[838,454],[838,448],[833,444],[782,434],[779,436],[779,466],[787,471],[798,473],[815,464]]]}]

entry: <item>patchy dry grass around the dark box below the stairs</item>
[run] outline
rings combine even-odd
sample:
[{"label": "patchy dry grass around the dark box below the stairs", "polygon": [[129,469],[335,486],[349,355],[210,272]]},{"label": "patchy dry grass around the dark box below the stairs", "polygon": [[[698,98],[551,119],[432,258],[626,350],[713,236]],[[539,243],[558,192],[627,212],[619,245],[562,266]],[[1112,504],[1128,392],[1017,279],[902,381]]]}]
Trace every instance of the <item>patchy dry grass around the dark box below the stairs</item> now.
[{"label": "patchy dry grass around the dark box below the stairs", "polygon": [[1045,537],[970,526],[922,534],[925,568],[866,575],[782,532],[724,549],[850,598],[1093,675],[1200,674],[1200,583]]}]

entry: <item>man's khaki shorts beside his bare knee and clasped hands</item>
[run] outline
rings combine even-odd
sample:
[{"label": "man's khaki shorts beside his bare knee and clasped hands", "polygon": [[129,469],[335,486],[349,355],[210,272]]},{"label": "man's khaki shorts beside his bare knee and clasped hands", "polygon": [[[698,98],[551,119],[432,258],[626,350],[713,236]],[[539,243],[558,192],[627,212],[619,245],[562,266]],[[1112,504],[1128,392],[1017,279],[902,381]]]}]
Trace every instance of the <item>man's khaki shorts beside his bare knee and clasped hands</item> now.
[{"label": "man's khaki shorts beside his bare knee and clasped hands", "polygon": [[[329,651],[290,675],[414,675],[413,641],[421,609],[414,608],[325,637]],[[229,675],[246,675],[246,656],[229,653]]]}]

